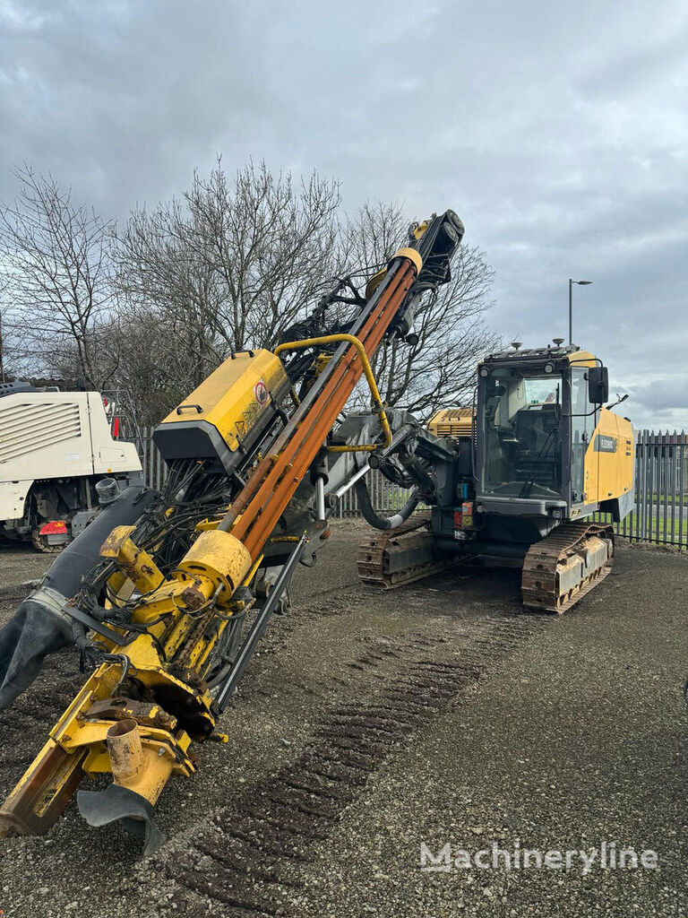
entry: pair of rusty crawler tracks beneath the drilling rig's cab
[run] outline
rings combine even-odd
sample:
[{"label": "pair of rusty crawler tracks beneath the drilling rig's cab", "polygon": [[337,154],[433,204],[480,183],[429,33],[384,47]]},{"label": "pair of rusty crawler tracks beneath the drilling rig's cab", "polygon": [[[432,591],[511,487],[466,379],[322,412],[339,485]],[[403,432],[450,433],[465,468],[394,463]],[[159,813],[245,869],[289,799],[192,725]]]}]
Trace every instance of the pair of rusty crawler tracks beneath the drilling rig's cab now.
[{"label": "pair of rusty crawler tracks beneath the drilling rig's cab", "polygon": [[[429,521],[429,511],[425,511],[397,529],[371,530],[359,545],[361,580],[394,589],[455,565],[456,554],[441,553],[435,547]],[[462,556],[471,556],[470,543]],[[571,609],[606,577],[613,557],[611,526],[589,522],[558,526],[527,551],[521,582],[524,606],[557,613]]]}]

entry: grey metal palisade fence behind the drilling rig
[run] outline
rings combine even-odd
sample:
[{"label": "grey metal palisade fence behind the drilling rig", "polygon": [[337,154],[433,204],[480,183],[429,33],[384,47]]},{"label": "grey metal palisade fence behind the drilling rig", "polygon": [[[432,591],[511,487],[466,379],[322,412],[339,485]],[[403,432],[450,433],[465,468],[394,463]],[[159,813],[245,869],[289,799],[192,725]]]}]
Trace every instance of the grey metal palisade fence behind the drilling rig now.
[{"label": "grey metal palisade fence behind the drilling rig", "polygon": [[[143,429],[132,439],[137,442],[146,484],[161,487],[167,466],[150,431]],[[369,472],[366,480],[378,512],[394,513],[404,506],[408,490],[387,481],[379,472]],[[355,489],[351,488],[339,501],[335,515],[358,517],[360,512]],[[594,519],[611,521],[611,516],[597,513]],[[688,548],[688,434],[637,431],[635,507],[625,520],[615,524],[615,530],[635,542]]]}]

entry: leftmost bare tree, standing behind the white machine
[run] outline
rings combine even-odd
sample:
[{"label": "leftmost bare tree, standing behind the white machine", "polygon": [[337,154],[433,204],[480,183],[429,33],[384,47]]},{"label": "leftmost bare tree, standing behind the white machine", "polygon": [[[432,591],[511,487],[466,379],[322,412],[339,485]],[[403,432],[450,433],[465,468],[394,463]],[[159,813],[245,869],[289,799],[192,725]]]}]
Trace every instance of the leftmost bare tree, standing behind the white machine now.
[{"label": "leftmost bare tree, standing behind the white machine", "polygon": [[30,166],[16,176],[19,197],[0,208],[0,252],[22,341],[16,356],[34,372],[69,358],[86,385],[99,388],[117,363],[112,353],[107,362],[94,355],[99,344],[105,353],[97,330],[115,297],[110,224],[73,204],[71,189],[62,190],[51,176]]}]

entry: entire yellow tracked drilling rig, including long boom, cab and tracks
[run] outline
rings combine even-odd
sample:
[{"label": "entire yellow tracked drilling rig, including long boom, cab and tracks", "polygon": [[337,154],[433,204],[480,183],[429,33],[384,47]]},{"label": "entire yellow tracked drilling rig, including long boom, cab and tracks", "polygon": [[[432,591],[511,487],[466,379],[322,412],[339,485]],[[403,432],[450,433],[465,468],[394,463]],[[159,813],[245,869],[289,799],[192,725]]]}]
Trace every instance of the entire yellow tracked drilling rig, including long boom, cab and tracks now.
[{"label": "entire yellow tracked drilling rig, including long boom, cab and tracks", "polygon": [[[555,341],[492,354],[476,404],[427,427],[383,405],[372,358],[413,341],[462,236],[451,210],[414,224],[389,264],[362,284],[338,279],[273,351],[231,353],[156,429],[160,493],[108,500],[19,606],[0,632],[0,708],[62,646],[76,644],[90,676],[0,809],[0,834],[46,832],[76,792],[88,823],[159,847],[156,801],[194,774],[194,744],[218,737],[296,565],[327,543],[350,487],[377,530],[360,549],[368,583],[506,555],[523,560],[525,604],[560,612],[605,576],[612,527],[589,518],[630,509],[633,433],[604,407],[592,353]],[[343,414],[361,379],[372,409]],[[392,517],[372,508],[370,468],[409,489]],[[112,777],[105,790],[78,789],[99,775]]]}]

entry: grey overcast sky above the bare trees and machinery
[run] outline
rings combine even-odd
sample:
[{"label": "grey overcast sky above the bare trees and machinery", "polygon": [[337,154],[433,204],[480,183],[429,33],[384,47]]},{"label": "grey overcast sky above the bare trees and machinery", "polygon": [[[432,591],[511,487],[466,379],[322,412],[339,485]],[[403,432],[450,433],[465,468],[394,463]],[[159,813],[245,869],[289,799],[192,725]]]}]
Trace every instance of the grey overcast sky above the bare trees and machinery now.
[{"label": "grey overcast sky above the bare trees and machinery", "polygon": [[688,5],[0,0],[0,198],[31,162],[126,218],[221,153],[453,207],[490,324],[567,332],[641,427],[688,429]]}]

